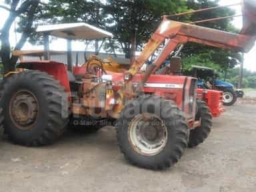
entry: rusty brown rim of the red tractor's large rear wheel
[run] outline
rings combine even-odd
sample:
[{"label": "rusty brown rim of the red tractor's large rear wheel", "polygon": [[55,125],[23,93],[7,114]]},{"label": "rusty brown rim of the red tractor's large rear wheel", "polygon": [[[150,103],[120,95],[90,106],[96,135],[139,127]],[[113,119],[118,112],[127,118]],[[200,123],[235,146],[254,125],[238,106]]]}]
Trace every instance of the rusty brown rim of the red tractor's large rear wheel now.
[{"label": "rusty brown rim of the red tractor's large rear wheel", "polygon": [[16,127],[28,130],[35,124],[38,117],[37,98],[31,91],[17,91],[9,103],[9,115]]}]

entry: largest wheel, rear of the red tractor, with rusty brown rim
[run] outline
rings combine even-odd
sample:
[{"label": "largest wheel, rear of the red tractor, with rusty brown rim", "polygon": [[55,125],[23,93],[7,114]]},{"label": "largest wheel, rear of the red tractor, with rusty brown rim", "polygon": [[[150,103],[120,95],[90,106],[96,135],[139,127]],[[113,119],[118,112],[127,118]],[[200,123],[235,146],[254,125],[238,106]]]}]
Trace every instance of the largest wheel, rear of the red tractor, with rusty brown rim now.
[{"label": "largest wheel, rear of the red tractor, with rusty brown rim", "polygon": [[4,128],[19,145],[56,141],[68,122],[68,94],[53,76],[23,71],[3,80],[0,88]]}]

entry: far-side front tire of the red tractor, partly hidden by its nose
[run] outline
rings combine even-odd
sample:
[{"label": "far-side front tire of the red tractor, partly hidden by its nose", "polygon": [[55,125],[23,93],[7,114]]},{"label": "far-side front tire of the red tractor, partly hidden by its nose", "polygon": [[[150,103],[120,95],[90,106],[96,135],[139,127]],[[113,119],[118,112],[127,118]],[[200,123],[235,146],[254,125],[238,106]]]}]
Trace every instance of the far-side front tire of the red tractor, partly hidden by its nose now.
[{"label": "far-side front tire of the red tractor, partly hidden by its nose", "polygon": [[199,121],[201,119],[201,126],[192,129],[189,134],[189,147],[195,147],[200,143],[203,143],[205,139],[209,136],[212,127],[211,112],[209,107],[204,101],[197,99],[197,115],[195,120]]}]

